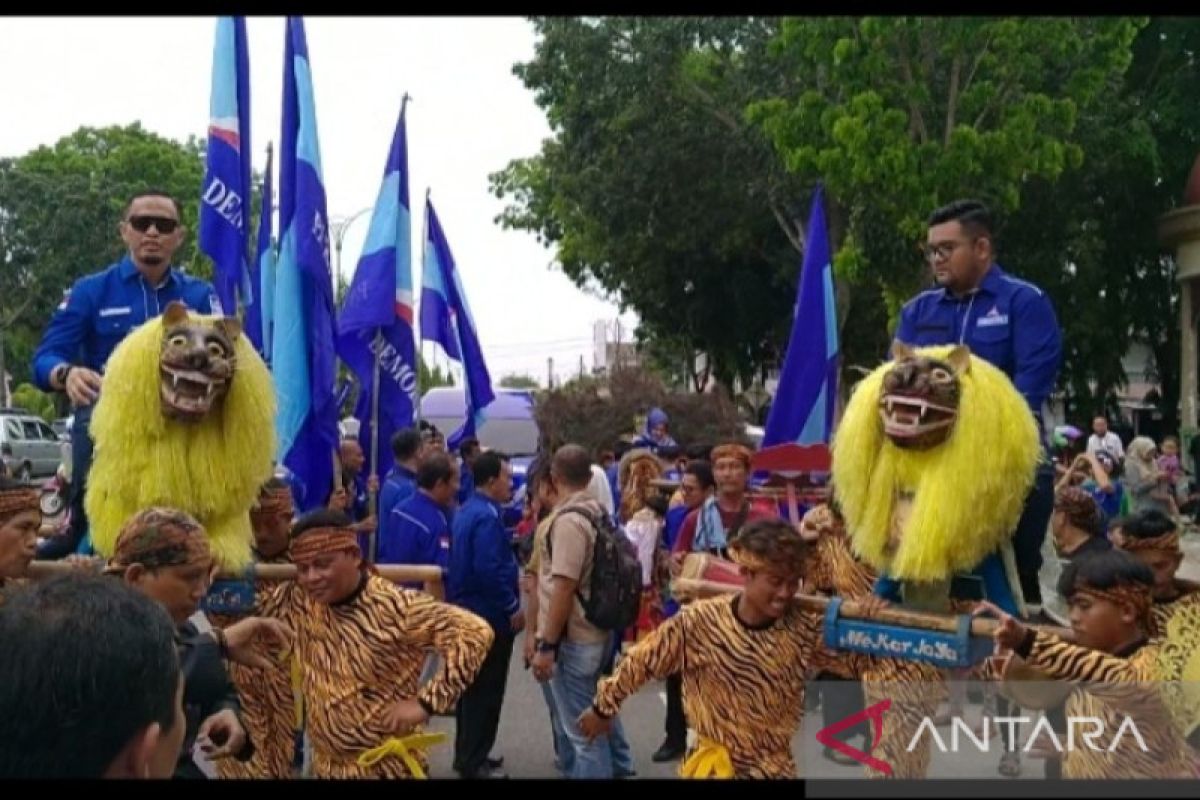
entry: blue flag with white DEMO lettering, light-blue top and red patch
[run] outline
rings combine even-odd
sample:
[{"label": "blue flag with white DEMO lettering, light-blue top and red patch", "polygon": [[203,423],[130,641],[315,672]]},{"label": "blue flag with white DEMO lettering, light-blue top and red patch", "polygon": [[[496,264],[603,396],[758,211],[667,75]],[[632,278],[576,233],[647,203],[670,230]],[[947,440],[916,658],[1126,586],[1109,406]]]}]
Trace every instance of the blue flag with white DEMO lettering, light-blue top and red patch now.
[{"label": "blue flag with white DEMO lettering, light-blue top and red patch", "polygon": [[[378,475],[391,469],[391,435],[412,427],[416,404],[416,353],[413,342],[412,213],[408,201],[408,134],[404,109],[388,151],[383,186],[354,281],[337,319],[337,354],[358,377],[359,441]],[[379,426],[372,429],[374,361],[379,357]]]}]

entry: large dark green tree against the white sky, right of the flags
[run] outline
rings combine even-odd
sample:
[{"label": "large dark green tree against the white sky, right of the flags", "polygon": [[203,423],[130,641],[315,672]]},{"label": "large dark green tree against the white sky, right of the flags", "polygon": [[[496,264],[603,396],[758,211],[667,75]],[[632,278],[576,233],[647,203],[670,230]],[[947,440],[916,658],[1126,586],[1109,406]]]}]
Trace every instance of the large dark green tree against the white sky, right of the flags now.
[{"label": "large dark green tree against the white sky, right of the flags", "polygon": [[502,224],[535,231],[577,285],[637,311],[644,341],[709,354],[726,383],[776,360],[798,263],[778,218],[791,227],[802,192],[742,119],[746,92],[774,85],[761,67],[776,23],[534,25],[534,59],[514,71],[554,138],[492,176],[510,200]]}]

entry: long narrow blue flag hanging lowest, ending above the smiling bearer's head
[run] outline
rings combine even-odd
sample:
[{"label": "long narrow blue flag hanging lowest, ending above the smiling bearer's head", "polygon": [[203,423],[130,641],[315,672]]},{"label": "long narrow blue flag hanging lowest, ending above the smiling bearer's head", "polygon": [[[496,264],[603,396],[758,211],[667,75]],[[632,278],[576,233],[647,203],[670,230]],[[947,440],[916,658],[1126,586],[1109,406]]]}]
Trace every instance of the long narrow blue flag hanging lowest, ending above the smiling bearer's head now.
[{"label": "long narrow blue flag hanging lowest, ending above the smiling bearer's head", "polygon": [[280,144],[280,254],[275,281],[271,369],[280,461],[305,487],[308,511],[334,485],[334,278],[329,215],[317,140],[317,112],[304,20],[288,17]]}]

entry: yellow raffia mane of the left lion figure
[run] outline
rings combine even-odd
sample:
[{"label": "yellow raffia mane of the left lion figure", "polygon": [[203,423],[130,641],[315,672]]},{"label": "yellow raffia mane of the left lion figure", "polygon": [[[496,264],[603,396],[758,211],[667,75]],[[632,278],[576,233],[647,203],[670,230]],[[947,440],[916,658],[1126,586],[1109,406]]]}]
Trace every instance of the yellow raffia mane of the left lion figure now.
[{"label": "yellow raffia mane of the left lion figure", "polygon": [[[188,312],[196,324],[217,317]],[[152,505],[181,509],[204,525],[215,558],[251,561],[250,507],[271,477],[275,390],[245,336],[229,392],[199,425],[168,420],[158,396],[162,318],[132,331],[113,351],[91,420],[96,443],[85,506],[95,548],[113,553],[121,524]]]}]

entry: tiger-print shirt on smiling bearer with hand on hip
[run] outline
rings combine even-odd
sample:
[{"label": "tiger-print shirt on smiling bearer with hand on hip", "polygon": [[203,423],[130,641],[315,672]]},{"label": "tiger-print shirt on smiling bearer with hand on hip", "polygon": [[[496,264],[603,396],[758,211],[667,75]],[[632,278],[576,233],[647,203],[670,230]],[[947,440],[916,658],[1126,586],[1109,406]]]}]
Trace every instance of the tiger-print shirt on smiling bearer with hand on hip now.
[{"label": "tiger-print shirt on smiling bearer with hand on hip", "polygon": [[[454,708],[493,637],[470,612],[377,575],[336,606],[287,582],[263,599],[260,613],[294,631],[316,777],[408,777],[396,756],[373,766],[356,759],[394,735],[384,715],[396,702],[415,697],[438,714]],[[430,648],[442,656],[440,668],[419,686]],[[427,765],[424,756],[419,760]]]}]

